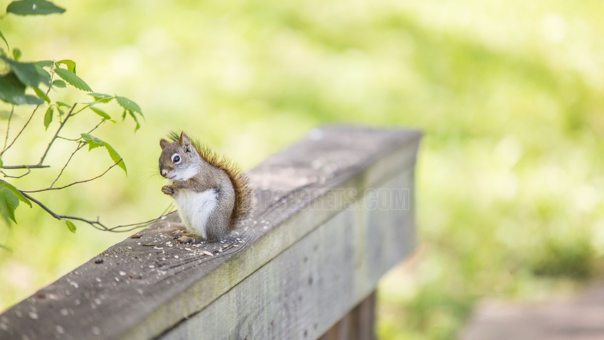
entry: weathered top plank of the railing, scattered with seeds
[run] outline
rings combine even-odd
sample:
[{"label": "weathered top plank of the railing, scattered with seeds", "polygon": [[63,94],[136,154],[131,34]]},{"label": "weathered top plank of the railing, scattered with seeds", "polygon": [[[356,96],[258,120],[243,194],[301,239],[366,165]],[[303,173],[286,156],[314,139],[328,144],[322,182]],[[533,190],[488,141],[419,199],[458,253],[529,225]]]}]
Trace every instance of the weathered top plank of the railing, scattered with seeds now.
[{"label": "weathered top plank of the railing, scattered with seeds", "polygon": [[[412,166],[420,136],[400,129],[313,129],[248,172],[259,207],[225,240],[178,244],[170,234],[178,229],[176,216],[159,221],[141,230],[141,238],[126,238],[5,311],[0,338],[117,338],[132,334],[161,307],[166,316],[141,331],[143,338],[157,336],[302,237],[303,230],[276,229],[324,192],[341,188],[396,149],[410,148]],[[301,194],[302,189],[312,190]],[[280,238],[274,249],[257,249],[271,233]],[[200,283],[206,288],[187,301],[191,287]]]}]

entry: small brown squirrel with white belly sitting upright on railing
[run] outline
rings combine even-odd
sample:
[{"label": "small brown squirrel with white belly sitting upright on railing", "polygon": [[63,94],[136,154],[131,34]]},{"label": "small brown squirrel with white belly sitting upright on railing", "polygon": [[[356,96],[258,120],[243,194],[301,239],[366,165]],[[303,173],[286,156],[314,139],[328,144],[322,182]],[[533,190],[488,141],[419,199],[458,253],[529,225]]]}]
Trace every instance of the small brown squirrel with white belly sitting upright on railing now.
[{"label": "small brown squirrel with white belly sitting upright on railing", "polygon": [[219,157],[187,134],[171,132],[159,140],[159,173],[170,185],[185,230],[173,232],[181,243],[219,241],[249,217],[253,193],[248,177],[226,157]]}]

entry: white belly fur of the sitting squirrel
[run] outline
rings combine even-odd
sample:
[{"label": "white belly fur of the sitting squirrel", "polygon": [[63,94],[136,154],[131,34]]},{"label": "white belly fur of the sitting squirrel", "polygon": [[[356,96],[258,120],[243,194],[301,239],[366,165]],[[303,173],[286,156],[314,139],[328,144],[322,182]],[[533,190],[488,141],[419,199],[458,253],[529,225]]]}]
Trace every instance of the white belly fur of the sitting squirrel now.
[{"label": "white belly fur of the sitting squirrel", "polygon": [[204,192],[194,192],[187,189],[176,191],[173,196],[178,206],[178,214],[182,224],[190,234],[207,238],[206,224],[210,213],[216,208],[216,190],[208,189]]}]

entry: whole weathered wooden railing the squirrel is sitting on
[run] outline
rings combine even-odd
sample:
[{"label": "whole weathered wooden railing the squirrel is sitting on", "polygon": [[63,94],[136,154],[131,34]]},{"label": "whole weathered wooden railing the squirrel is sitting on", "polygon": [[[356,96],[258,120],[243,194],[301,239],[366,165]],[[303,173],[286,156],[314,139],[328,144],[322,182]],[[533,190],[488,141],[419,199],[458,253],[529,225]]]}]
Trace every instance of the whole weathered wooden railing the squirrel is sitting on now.
[{"label": "whole weathered wooden railing the squirrel is sitting on", "polygon": [[0,315],[0,339],[365,339],[414,249],[417,131],[329,126],[248,172],[251,220],[178,244],[176,217]]}]

